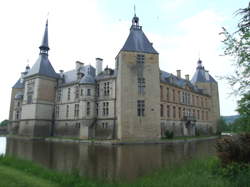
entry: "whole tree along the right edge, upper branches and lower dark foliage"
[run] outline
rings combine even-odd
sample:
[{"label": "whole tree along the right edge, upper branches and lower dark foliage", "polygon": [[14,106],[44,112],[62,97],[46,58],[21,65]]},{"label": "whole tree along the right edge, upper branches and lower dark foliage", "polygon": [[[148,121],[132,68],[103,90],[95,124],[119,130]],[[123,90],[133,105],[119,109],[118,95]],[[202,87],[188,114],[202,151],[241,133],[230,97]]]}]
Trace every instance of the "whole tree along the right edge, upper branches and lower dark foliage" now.
[{"label": "whole tree along the right edge, upper branches and lower dark foliage", "polygon": [[250,131],[250,3],[247,8],[239,9],[236,15],[241,16],[237,30],[231,34],[223,28],[221,33],[225,36],[222,41],[225,45],[224,54],[235,59],[235,72],[226,79],[242,96],[237,108],[240,118],[234,125],[238,124],[240,131]]}]

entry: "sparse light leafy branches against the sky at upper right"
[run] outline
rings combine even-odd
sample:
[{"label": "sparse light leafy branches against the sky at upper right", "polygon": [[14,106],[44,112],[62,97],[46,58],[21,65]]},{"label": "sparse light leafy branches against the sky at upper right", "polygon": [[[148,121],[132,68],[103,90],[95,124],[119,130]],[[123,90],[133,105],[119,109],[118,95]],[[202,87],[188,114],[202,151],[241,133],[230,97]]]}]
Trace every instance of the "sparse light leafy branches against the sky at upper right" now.
[{"label": "sparse light leafy branches against the sky at upper right", "polygon": [[242,16],[236,32],[231,34],[223,28],[221,34],[225,37],[222,41],[225,45],[224,54],[236,60],[235,73],[226,79],[230,85],[237,87],[237,92],[243,94],[250,91],[250,3],[247,8],[239,9],[236,15]]}]

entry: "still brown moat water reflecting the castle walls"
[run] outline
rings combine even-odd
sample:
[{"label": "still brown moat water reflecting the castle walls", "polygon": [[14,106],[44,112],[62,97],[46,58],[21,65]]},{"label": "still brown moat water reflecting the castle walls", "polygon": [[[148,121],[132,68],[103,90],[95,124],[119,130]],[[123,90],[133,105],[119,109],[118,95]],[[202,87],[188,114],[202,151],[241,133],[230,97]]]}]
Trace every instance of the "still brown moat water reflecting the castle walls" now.
[{"label": "still brown moat water reflecting the castle walls", "polygon": [[0,138],[0,151],[64,172],[132,180],[152,171],[215,154],[215,140],[153,145],[90,145]]}]

